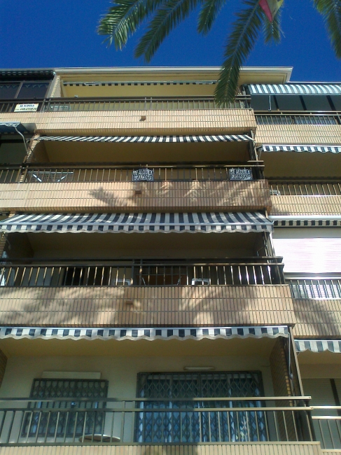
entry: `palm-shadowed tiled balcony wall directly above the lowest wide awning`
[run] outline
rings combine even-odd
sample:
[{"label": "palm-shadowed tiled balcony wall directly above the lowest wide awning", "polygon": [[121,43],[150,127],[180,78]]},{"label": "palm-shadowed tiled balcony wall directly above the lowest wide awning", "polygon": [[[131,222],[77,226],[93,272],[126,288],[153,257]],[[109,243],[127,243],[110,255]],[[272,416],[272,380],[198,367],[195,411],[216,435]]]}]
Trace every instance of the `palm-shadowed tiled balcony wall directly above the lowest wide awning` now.
[{"label": "palm-shadowed tiled balcony wall directly above the lowest wide awning", "polygon": [[214,327],[291,323],[295,323],[293,300],[286,285],[2,288],[0,294],[0,325]]}]

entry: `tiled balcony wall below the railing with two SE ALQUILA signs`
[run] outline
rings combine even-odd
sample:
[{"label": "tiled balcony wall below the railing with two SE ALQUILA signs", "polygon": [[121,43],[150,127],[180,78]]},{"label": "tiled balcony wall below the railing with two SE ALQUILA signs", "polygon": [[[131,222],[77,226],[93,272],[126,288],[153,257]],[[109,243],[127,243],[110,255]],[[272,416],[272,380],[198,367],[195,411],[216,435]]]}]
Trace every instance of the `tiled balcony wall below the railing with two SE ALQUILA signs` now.
[{"label": "tiled balcony wall below the railing with two SE ALQUILA signs", "polygon": [[[135,195],[135,190],[141,194]],[[267,181],[0,183],[0,211],[270,211]]]}]

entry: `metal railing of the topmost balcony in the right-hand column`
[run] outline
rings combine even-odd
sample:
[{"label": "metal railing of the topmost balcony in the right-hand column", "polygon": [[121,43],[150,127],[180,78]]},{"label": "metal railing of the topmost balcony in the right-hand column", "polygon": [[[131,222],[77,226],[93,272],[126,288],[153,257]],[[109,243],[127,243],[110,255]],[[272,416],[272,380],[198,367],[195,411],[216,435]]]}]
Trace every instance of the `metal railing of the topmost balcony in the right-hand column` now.
[{"label": "metal railing of the topmost balcony in the right-hand column", "polygon": [[340,125],[340,113],[257,113],[257,125]]}]

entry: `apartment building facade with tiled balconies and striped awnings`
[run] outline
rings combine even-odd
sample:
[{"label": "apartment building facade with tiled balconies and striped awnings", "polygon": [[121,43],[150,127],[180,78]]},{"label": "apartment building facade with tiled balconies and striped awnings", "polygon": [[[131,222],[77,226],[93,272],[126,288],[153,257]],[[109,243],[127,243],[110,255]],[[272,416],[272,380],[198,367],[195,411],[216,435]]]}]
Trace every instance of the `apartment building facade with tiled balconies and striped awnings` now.
[{"label": "apartment building facade with tiled balconies and striped awnings", "polygon": [[0,71],[0,451],[341,454],[341,85]]}]

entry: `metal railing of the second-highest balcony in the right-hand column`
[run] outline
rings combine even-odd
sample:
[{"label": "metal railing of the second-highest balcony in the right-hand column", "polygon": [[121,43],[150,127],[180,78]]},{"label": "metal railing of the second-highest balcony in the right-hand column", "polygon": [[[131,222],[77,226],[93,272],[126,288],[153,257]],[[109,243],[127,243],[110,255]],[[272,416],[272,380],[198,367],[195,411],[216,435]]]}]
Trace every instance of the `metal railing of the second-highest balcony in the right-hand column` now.
[{"label": "metal railing of the second-highest balcony in the right-hand column", "polygon": [[276,196],[340,196],[341,181],[336,179],[285,179],[269,181],[270,193]]}]

